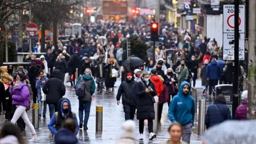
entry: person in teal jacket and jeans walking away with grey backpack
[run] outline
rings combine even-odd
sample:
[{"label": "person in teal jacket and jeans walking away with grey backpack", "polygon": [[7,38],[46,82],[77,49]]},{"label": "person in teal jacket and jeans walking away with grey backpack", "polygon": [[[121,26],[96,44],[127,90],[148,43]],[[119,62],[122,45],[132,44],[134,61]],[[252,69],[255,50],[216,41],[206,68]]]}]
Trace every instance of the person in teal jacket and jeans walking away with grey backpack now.
[{"label": "person in teal jacket and jeans walking away with grey backpack", "polygon": [[[90,68],[86,68],[84,70],[84,75],[80,76],[77,80],[77,84],[79,81],[83,81],[84,83],[84,97],[78,97],[79,100],[79,128],[82,129],[84,125],[84,130],[88,130],[87,123],[90,116],[90,109],[92,103],[92,94],[95,92],[95,82],[91,76],[92,71]],[[83,121],[84,115],[84,121]]]}]

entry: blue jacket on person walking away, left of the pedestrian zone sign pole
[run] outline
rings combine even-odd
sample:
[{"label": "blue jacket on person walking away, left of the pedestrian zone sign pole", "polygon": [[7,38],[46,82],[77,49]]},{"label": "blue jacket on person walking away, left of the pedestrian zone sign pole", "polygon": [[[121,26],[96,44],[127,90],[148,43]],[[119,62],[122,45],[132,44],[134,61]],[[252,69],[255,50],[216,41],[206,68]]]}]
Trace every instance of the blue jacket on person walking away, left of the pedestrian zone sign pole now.
[{"label": "blue jacket on person walking away, left of the pedestrian zone sign pole", "polygon": [[221,77],[222,69],[218,65],[217,61],[212,61],[209,63],[209,65],[206,67],[206,78],[209,79],[218,79]]}]

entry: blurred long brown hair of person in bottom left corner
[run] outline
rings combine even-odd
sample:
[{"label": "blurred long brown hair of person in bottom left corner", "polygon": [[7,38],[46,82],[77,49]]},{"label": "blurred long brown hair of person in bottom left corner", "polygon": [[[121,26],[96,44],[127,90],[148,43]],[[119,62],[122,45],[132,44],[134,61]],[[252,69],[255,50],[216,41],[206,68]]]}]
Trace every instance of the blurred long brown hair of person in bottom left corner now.
[{"label": "blurred long brown hair of person in bottom left corner", "polygon": [[16,137],[19,141],[19,144],[26,144],[26,141],[23,139],[22,135],[20,134],[18,127],[12,123],[4,124],[0,133],[0,139],[6,137],[7,135],[13,135],[14,137]]}]

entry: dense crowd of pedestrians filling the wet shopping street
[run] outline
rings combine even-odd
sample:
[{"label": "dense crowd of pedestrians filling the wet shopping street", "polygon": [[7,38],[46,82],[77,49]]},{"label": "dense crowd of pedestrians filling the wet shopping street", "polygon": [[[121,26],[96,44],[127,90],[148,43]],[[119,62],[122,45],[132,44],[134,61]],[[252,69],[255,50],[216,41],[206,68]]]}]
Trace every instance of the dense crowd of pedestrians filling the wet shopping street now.
[{"label": "dense crowd of pedestrians filling the wet shopping street", "polygon": [[[221,49],[215,39],[192,35],[186,30],[178,32],[169,29],[171,26],[168,25],[161,28],[166,42],[153,47],[148,38],[149,24],[132,26],[126,23],[90,23],[83,28],[81,36],[70,37],[68,43],[62,43],[62,37],[58,44],[49,42],[45,55],[37,58],[30,53],[25,58],[26,62],[31,62],[28,70],[23,67],[14,69],[12,65],[0,67],[0,93],[4,93],[1,103],[5,118],[12,124],[17,122],[20,130],[25,130],[27,124],[33,134],[30,141],[37,141],[39,138],[26,112],[30,109],[30,103],[39,103],[39,118],[46,118],[48,105],[48,127],[55,135],[55,143],[63,142],[61,137],[65,137],[65,134],[69,135],[70,141],[77,143],[75,135],[78,130],[88,129],[95,90],[101,93],[106,89],[113,93],[117,78],[122,77],[123,81],[116,95],[117,105],[120,105],[122,98],[124,119],[127,122],[133,120],[136,113],[140,140],[143,139],[145,120],[148,121],[148,139],[156,138],[153,119],[161,121],[163,105],[168,103],[169,118],[173,124],[168,130],[172,139],[167,143],[180,141],[181,137],[184,143],[189,143],[195,119],[195,100],[190,95],[191,88],[195,87],[196,79],[201,77],[203,93],[215,95],[213,89],[218,83],[232,84],[233,63],[223,61]],[[102,35],[103,38],[100,39]],[[137,35],[147,42],[148,50],[143,66],[127,69],[122,67],[123,48],[120,45],[130,35]],[[39,46],[38,43],[38,49]],[[75,83],[76,75],[78,80]],[[70,101],[62,98],[66,93],[64,82],[68,81],[74,86],[79,100],[79,121],[71,110]],[[239,69],[239,81],[239,89],[242,90],[242,67]],[[237,109],[237,119],[244,118],[247,93],[244,93],[243,100],[243,106]],[[154,110],[156,101],[159,103],[158,111]],[[220,94],[215,98],[214,104],[209,106],[205,118],[207,128],[231,118],[225,104],[226,99]],[[158,113],[158,117],[155,117],[155,113]],[[15,127],[12,124],[6,125]],[[8,127],[3,127],[4,129],[12,131]],[[0,137],[7,137],[5,134],[9,132],[2,132]],[[10,133],[18,143],[23,143],[17,132]]]}]

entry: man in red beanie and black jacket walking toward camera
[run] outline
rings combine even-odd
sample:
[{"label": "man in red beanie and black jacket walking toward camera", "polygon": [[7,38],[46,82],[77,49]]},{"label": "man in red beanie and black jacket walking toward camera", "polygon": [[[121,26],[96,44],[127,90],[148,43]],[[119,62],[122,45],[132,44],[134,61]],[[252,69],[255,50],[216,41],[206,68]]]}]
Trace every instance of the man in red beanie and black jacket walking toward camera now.
[{"label": "man in red beanie and black jacket walking toward camera", "polygon": [[132,72],[128,72],[126,74],[126,80],[121,83],[118,89],[118,93],[116,95],[117,105],[120,105],[121,95],[123,108],[125,113],[125,121],[128,119],[134,118],[135,109],[137,106],[137,96],[136,96],[136,89],[137,89],[137,82],[134,81],[134,77]]}]

